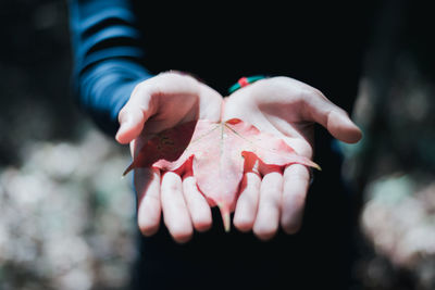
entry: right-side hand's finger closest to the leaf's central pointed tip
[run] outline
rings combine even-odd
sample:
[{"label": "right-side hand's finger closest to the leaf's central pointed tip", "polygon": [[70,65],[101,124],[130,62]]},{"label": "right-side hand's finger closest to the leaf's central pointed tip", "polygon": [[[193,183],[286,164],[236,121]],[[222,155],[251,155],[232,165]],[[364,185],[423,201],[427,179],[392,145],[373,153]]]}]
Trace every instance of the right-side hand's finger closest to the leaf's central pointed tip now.
[{"label": "right-side hand's finger closest to the leaf's central pointed tip", "polygon": [[261,177],[257,173],[248,172],[241,180],[241,192],[237,200],[234,213],[234,226],[241,231],[249,231],[256,222]]}]

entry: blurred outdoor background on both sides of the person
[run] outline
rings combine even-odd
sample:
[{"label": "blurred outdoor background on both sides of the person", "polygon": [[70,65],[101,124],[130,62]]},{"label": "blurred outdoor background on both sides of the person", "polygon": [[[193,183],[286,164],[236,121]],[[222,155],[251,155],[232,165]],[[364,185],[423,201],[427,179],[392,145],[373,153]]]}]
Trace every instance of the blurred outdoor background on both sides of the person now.
[{"label": "blurred outdoor background on both sides of the person", "polygon": [[[380,1],[353,112],[364,139],[339,144],[360,210],[355,289],[435,289],[433,18]],[[128,152],[70,96],[66,3],[0,0],[0,290],[127,289]]]}]

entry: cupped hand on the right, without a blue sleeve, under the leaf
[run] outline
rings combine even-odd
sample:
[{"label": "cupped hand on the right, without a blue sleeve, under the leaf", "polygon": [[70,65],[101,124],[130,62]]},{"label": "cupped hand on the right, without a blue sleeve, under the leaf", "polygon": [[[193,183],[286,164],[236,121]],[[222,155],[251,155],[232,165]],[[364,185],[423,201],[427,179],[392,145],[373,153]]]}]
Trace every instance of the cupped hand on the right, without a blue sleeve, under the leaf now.
[{"label": "cupped hand on the right, without a blue sleeve, under the leaf", "polygon": [[[321,124],[335,138],[353,143],[360,129],[348,114],[318,89],[288,77],[262,79],[244,87],[225,100],[222,121],[238,117],[262,131],[283,138],[303,156],[313,156],[313,125]],[[246,172],[236,204],[234,225],[270,239],[279,225],[287,234],[301,224],[310,172],[303,165],[284,172],[254,166]]]}]

